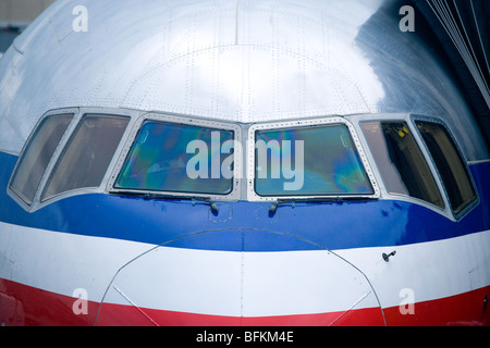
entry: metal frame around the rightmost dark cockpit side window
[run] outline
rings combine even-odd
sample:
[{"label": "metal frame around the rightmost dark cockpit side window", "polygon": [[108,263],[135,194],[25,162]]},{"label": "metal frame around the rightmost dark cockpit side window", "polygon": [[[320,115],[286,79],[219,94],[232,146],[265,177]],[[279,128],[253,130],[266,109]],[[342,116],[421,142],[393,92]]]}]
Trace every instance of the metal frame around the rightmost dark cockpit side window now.
[{"label": "metal frame around the rightmost dark cockpit side window", "polygon": [[[411,123],[414,127],[414,129],[416,130],[417,137],[419,138],[419,141],[421,144],[421,146],[424,147],[424,151],[427,153],[428,160],[431,162],[431,165],[436,169],[437,172],[437,178],[441,185],[442,191],[441,195],[443,196],[443,199],[445,201],[446,208],[450,211],[452,217],[454,221],[460,221],[462,220],[465,215],[467,215],[475,207],[477,207],[479,204],[480,198],[479,198],[479,194],[478,194],[478,189],[476,187],[475,184],[475,179],[473,177],[471,171],[468,166],[468,162],[465,159],[463,151],[458,145],[458,142],[456,141],[456,138],[454,137],[453,133],[451,132],[451,129],[449,128],[449,126],[439,117],[434,117],[434,116],[426,116],[426,115],[418,115],[418,114],[411,114],[409,116],[411,119]],[[416,122],[427,122],[427,123],[433,123],[433,124],[438,124],[440,126],[442,126],[448,135],[450,140],[452,141],[453,146],[455,147],[455,150],[457,151],[457,153],[460,154],[460,158],[463,162],[463,166],[466,170],[466,173],[468,174],[468,179],[469,179],[469,184],[471,185],[473,190],[475,191],[475,199],[468,203],[460,213],[455,213],[453,206],[451,203],[449,194],[448,194],[448,189],[445,188],[444,182],[442,181],[442,176],[439,172],[439,169],[436,165],[436,161],[432,158],[432,153],[430,153],[429,147],[427,146],[426,141],[424,140],[424,136],[421,135],[420,130],[418,129],[418,126],[416,124]]]}]

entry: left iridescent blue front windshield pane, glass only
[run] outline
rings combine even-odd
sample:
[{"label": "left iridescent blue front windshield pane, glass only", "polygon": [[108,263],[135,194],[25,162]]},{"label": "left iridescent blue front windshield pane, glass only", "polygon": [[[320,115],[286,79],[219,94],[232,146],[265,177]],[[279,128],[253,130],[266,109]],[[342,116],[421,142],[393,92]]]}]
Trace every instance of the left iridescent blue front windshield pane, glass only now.
[{"label": "left iridescent blue front windshield pane, glass only", "polygon": [[114,188],[228,195],[233,189],[233,132],[147,121]]}]

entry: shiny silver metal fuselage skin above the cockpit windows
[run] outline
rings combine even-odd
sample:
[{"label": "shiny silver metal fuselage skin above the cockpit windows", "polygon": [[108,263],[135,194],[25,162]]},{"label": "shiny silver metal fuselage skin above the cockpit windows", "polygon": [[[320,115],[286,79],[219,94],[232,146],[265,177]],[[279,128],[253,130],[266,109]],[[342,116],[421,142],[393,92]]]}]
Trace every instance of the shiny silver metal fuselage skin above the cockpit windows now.
[{"label": "shiny silver metal fuselage skin above the cockpit windows", "polygon": [[56,2],[0,61],[0,149],[19,153],[47,110],[97,105],[245,123],[438,115],[468,160],[488,157],[443,65],[400,30],[397,1],[91,0],[87,32],[76,5]]}]

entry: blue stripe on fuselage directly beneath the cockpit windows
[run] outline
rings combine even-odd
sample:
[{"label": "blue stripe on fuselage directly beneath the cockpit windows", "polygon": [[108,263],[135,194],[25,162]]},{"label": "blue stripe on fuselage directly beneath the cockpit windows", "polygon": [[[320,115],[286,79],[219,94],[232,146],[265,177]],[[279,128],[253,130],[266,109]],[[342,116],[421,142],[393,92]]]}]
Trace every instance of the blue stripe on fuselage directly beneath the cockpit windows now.
[{"label": "blue stripe on fuselage directly beneath the cockpit windows", "polygon": [[287,203],[272,217],[271,203],[220,202],[213,216],[204,202],[105,194],[69,197],[28,213],[7,194],[16,160],[0,152],[0,221],[56,232],[180,248],[287,251],[397,246],[490,229],[490,162],[470,166],[480,203],[453,222],[421,206],[393,200]]}]

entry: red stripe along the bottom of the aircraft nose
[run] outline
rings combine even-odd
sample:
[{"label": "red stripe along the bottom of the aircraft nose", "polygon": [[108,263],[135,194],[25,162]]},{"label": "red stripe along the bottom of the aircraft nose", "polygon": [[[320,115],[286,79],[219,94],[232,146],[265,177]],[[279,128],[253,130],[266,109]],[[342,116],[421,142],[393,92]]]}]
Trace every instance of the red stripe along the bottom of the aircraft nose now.
[{"label": "red stripe along the bottom of the aircraft nose", "polygon": [[[399,307],[383,309],[387,325],[490,325],[485,303],[490,286],[437,300],[416,302],[414,314]],[[75,314],[77,298],[0,278],[0,323],[10,325],[94,325],[99,303],[87,301],[87,314]],[[77,302],[79,303],[79,302]],[[75,307],[81,308],[75,303]],[[384,325],[379,308],[347,312],[240,318],[163,311],[103,303],[97,325],[161,326],[324,326]]]}]

